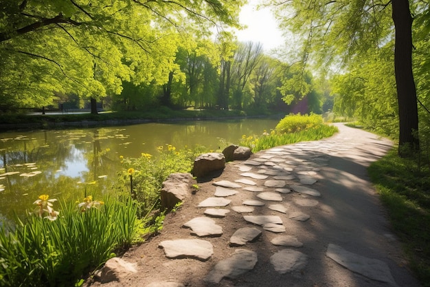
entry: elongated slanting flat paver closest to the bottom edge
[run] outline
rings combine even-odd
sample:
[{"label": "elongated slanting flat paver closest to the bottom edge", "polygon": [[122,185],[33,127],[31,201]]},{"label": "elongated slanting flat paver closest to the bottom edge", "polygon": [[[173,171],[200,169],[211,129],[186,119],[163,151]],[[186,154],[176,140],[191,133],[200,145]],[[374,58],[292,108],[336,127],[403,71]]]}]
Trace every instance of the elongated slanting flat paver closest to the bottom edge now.
[{"label": "elongated slanting flat paver closest to the bottom edge", "polygon": [[234,279],[252,270],[257,261],[257,253],[245,249],[236,249],[231,257],[218,262],[203,280],[207,283],[218,284],[224,277]]}]

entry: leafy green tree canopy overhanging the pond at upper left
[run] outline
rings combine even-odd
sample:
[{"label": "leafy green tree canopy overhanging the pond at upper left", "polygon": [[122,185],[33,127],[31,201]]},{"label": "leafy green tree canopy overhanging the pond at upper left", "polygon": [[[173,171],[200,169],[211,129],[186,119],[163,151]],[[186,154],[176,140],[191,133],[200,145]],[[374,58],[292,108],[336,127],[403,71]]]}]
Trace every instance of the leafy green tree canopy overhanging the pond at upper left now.
[{"label": "leafy green tree canopy overhanging the pond at upper left", "polygon": [[[167,83],[189,25],[238,25],[243,1],[100,0],[0,3],[0,99],[52,103],[54,92],[97,100],[122,81]],[[209,25],[210,24],[210,25]]]}]

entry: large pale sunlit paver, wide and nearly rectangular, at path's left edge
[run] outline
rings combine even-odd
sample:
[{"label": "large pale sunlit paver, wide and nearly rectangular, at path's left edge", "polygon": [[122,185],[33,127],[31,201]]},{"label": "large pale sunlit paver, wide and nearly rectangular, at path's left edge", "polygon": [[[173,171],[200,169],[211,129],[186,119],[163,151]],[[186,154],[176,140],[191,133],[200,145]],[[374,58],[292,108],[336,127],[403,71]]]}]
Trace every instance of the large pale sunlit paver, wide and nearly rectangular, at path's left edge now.
[{"label": "large pale sunlit paver, wide and nearly rectangular, at path's left edge", "polygon": [[166,240],[159,244],[168,258],[193,258],[205,261],[214,254],[212,244],[206,240]]}]

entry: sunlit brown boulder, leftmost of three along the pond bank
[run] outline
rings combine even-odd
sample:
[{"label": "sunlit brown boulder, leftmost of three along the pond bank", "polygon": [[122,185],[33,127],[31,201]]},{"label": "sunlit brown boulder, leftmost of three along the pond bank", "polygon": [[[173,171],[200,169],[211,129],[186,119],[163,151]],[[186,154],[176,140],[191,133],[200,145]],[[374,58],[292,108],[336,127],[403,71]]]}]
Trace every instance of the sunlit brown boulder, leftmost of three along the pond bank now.
[{"label": "sunlit brown boulder, leftmost of three along the pond bank", "polygon": [[161,189],[161,208],[171,210],[192,193],[192,185],[197,184],[191,173],[172,173],[163,182]]}]

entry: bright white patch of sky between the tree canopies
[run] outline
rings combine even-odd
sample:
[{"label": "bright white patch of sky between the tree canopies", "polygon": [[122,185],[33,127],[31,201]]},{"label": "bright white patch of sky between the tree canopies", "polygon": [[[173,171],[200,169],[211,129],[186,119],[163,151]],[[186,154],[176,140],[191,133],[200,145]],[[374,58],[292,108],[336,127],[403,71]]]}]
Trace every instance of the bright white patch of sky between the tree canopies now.
[{"label": "bright white patch of sky between the tree canopies", "polygon": [[258,2],[258,0],[249,0],[249,3],[242,8],[239,14],[240,23],[247,25],[248,28],[236,34],[239,41],[260,42],[264,50],[269,51],[282,45],[284,39],[269,8],[257,10]]}]

